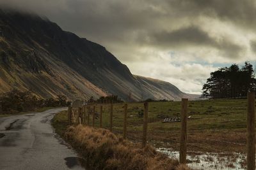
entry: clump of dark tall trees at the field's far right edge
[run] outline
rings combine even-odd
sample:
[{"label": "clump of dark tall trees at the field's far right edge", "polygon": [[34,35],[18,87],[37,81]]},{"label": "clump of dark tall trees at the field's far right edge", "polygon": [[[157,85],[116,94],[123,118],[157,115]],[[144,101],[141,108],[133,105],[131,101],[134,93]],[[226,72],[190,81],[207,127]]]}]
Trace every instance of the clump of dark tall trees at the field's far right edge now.
[{"label": "clump of dark tall trees at the field's far right edge", "polygon": [[211,73],[211,77],[203,86],[202,97],[245,97],[248,90],[253,90],[255,85],[255,71],[250,62],[245,62],[241,68],[237,64],[232,64]]}]

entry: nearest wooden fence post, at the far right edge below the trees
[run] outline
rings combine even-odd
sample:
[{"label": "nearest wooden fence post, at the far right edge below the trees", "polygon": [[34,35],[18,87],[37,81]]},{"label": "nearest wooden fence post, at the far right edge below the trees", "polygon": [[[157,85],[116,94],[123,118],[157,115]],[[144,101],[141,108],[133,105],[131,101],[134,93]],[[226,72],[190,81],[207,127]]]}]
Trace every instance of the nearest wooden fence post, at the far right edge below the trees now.
[{"label": "nearest wooden fence post, at the far right edge below the trees", "polygon": [[255,170],[255,92],[248,92],[247,169]]}]

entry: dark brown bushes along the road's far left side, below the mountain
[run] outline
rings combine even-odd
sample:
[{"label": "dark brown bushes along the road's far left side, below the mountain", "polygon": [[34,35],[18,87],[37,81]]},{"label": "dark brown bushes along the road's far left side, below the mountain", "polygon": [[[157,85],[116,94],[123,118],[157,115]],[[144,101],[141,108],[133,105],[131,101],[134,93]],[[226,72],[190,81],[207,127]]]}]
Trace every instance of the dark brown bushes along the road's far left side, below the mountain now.
[{"label": "dark brown bushes along the road's far left side, below the mountain", "polygon": [[61,95],[56,98],[42,99],[40,97],[36,97],[29,91],[22,92],[20,90],[12,90],[10,92],[0,94],[1,112],[33,111],[36,108],[69,105],[70,102],[67,101],[67,97]]}]

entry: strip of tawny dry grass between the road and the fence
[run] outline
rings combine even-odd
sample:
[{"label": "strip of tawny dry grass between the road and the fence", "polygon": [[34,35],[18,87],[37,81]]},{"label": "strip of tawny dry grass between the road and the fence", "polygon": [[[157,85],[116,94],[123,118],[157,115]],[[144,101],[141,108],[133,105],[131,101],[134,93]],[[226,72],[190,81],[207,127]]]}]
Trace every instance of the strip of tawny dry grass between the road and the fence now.
[{"label": "strip of tawny dry grass between the road and the fence", "polygon": [[64,138],[93,169],[189,169],[149,145],[140,148],[106,129],[77,125],[69,127]]}]

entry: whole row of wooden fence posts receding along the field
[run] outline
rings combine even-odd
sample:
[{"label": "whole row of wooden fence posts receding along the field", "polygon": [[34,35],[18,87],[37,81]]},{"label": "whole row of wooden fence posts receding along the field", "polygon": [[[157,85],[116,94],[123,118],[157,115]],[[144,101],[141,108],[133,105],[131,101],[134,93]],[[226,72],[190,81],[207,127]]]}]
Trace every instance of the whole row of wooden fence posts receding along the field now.
[{"label": "whole row of wooden fence posts receding along the field", "polygon": [[[108,104],[100,104],[100,115],[99,115],[99,127],[102,128],[102,115],[103,106]],[[187,154],[187,131],[188,131],[188,99],[182,99],[181,103],[181,124],[180,124],[180,164],[186,164]],[[93,107],[93,110],[92,110]],[[123,127],[123,138],[127,138],[127,107],[128,104],[124,104],[124,127]],[[113,103],[109,105],[109,131],[113,131]],[[78,117],[75,115],[78,113]],[[87,115],[87,125],[90,125],[90,115],[92,115],[92,126],[95,127],[95,104],[89,104],[82,108],[68,107],[68,122],[85,124]],[[84,115],[83,115],[84,114]],[[143,110],[143,136],[142,146],[147,145],[147,129],[148,129],[148,103],[144,103]],[[248,111],[247,111],[247,169],[255,169],[255,92],[248,92]]]}]

